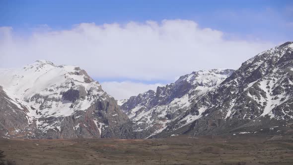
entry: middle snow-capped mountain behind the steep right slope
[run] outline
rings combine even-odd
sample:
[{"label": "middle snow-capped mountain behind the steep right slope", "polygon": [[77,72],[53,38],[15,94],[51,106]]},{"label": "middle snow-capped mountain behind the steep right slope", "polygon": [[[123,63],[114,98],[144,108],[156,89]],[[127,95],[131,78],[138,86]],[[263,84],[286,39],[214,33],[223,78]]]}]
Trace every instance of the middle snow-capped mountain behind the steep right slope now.
[{"label": "middle snow-capped mountain behind the steep right slope", "polygon": [[156,91],[130,97],[121,109],[135,123],[134,131],[139,138],[155,135],[177,120],[184,126],[203,112],[201,109],[185,115],[192,110],[194,99],[218,86],[232,73],[233,70],[217,69],[193,72],[175,83],[157,87]]}]

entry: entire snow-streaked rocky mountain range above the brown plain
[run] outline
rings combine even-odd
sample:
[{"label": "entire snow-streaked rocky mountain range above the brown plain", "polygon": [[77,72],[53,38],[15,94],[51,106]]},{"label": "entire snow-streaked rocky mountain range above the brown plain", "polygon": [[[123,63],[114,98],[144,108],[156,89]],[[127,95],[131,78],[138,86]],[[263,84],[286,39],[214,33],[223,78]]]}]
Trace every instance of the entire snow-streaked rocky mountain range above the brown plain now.
[{"label": "entire snow-streaked rocky mountain range above the brown plain", "polygon": [[40,60],[0,69],[4,138],[281,134],[292,126],[293,42],[258,54],[238,70],[193,72],[118,102],[75,66]]}]

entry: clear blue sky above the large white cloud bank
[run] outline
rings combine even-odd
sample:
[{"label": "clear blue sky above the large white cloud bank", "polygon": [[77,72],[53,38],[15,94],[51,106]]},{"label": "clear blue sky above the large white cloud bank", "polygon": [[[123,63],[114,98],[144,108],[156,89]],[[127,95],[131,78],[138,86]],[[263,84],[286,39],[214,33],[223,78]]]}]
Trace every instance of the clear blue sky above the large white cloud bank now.
[{"label": "clear blue sky above the large white cloud bank", "polygon": [[0,0],[0,26],[24,31],[80,22],[124,23],[162,19],[195,20],[202,27],[259,39],[290,40],[292,0]]}]

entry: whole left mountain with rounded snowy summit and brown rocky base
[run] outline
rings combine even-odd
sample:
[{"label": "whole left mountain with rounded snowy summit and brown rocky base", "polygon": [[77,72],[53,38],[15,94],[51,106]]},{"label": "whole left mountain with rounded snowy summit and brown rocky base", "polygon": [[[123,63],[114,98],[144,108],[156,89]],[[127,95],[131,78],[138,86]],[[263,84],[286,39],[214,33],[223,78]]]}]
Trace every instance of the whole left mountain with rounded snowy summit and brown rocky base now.
[{"label": "whole left mountain with rounded snowy summit and brown rocky base", "polygon": [[46,60],[0,70],[0,135],[130,138],[130,120],[84,70]]}]

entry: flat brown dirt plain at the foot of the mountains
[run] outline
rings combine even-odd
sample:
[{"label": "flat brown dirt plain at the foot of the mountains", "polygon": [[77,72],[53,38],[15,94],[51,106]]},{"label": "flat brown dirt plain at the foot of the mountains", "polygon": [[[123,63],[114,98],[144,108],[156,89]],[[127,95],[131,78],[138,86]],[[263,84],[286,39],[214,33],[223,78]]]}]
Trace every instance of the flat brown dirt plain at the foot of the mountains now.
[{"label": "flat brown dirt plain at the foot of the mountains", "polygon": [[292,135],[0,139],[0,150],[16,165],[293,165]]}]

